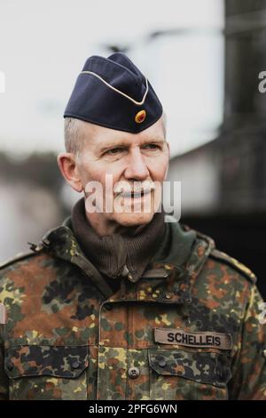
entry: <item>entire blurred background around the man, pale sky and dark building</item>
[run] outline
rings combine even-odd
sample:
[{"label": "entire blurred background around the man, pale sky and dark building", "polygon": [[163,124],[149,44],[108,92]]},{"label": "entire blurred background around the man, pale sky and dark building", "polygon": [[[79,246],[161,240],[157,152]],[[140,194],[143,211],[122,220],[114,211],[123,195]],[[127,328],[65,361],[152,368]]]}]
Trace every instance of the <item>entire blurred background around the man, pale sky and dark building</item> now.
[{"label": "entire blurred background around the man, pale sky and dark building", "polygon": [[85,60],[121,51],[166,111],[181,221],[253,269],[266,298],[265,35],[265,0],[0,0],[0,262],[80,198],[56,162],[62,115]]}]

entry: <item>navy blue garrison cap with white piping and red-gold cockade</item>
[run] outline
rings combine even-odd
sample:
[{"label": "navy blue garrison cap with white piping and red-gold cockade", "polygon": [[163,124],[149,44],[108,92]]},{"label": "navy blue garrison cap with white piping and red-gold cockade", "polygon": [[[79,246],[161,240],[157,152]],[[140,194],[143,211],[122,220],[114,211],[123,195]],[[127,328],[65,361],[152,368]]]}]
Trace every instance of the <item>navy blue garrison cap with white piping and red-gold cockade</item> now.
[{"label": "navy blue garrison cap with white piping and red-gold cockade", "polygon": [[64,113],[64,117],[129,133],[144,131],[161,115],[152,85],[121,52],[86,60]]}]

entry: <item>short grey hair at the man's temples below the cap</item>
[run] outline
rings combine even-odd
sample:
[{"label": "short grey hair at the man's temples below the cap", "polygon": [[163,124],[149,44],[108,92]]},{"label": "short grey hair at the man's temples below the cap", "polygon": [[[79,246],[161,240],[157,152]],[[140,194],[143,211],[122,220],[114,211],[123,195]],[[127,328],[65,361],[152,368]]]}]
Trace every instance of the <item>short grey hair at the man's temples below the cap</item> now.
[{"label": "short grey hair at the man's temples below the cap", "polygon": [[[74,155],[79,155],[84,146],[84,126],[87,122],[74,117],[65,117],[65,148],[66,152],[71,152]],[[162,129],[164,137],[167,136],[167,120],[166,114],[162,114]]]}]

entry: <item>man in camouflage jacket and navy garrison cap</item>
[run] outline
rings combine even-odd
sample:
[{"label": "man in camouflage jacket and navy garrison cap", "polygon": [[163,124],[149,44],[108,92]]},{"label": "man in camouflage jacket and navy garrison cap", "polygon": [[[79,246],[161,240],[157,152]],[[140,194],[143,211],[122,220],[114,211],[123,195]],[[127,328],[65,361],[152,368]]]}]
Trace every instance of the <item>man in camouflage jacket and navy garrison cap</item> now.
[{"label": "man in camouflage jacket and navy garrison cap", "polygon": [[151,84],[122,53],[90,57],[64,116],[59,168],[84,196],[0,270],[0,397],[266,399],[254,274],[160,211]]}]

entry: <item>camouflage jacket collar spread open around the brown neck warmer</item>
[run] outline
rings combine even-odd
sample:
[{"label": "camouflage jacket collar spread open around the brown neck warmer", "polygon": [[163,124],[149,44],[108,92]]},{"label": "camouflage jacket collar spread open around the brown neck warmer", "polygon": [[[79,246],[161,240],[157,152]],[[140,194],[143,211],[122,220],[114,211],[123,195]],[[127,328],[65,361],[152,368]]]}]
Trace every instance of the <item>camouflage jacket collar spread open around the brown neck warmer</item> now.
[{"label": "camouflage jacket collar spread open around the brown neck warmer", "polygon": [[32,249],[38,251],[44,248],[53,256],[80,267],[108,301],[189,302],[192,300],[192,282],[199,275],[215,243],[211,238],[173,220],[168,216],[162,245],[141,279],[130,283],[123,278],[120,291],[114,294],[107,280],[82,253],[71,229],[70,217],[58,228],[49,230],[40,244],[32,246]]}]

